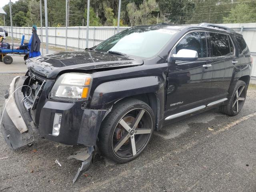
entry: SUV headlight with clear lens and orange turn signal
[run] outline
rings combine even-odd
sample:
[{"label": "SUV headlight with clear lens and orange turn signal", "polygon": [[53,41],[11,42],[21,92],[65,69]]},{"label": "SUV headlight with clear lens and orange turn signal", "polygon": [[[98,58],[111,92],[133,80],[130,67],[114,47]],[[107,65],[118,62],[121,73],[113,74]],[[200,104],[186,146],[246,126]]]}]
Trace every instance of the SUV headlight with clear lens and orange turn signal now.
[{"label": "SUV headlight with clear lens and orange turn signal", "polygon": [[89,74],[66,73],[62,74],[55,82],[51,99],[84,100],[89,94],[92,77]]}]

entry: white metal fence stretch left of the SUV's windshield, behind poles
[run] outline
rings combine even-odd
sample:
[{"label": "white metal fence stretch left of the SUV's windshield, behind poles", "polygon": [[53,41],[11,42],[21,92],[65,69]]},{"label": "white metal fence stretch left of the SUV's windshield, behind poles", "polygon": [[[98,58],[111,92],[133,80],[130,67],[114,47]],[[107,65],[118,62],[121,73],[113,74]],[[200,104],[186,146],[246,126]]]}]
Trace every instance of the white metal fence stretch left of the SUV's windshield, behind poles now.
[{"label": "white metal fence stretch left of the SUV's windshield, behind poles", "polygon": [[[120,27],[122,31],[128,27]],[[11,34],[11,27],[6,27],[8,35]],[[37,34],[41,39],[40,27],[37,28]],[[103,40],[117,33],[117,27],[90,27],[88,36],[88,47],[93,47]],[[13,27],[13,37],[21,39],[25,34],[25,40],[29,40],[32,35],[32,27]],[[86,26],[85,27],[68,27],[67,30],[67,47],[73,50],[81,50],[86,47]],[[42,42],[45,42],[45,28],[42,28]],[[49,27],[48,28],[48,43],[51,46],[62,47],[66,46],[66,28],[65,27]]]}]

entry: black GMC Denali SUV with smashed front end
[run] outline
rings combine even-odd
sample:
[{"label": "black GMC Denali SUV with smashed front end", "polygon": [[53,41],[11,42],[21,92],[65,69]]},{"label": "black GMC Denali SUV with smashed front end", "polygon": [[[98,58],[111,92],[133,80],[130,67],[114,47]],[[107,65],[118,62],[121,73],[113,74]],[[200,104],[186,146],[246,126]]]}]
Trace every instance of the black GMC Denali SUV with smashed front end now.
[{"label": "black GMC Denali SUV with smashed front end", "polygon": [[81,171],[96,144],[124,163],[166,124],[217,106],[238,114],[252,58],[242,35],[230,28],[158,24],[128,28],[82,52],[28,59],[26,65],[26,75],[14,78],[6,94],[6,142],[14,149],[32,142],[32,121],[44,138],[87,146]]}]

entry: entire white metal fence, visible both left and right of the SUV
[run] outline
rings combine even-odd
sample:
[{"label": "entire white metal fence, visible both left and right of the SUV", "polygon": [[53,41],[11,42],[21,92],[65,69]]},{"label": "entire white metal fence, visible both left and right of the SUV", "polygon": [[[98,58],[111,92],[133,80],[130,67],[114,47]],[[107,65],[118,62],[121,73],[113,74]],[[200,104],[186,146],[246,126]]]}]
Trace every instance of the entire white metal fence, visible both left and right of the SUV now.
[{"label": "entire white metal fence, visible both left and right of the SUV", "polygon": [[[236,32],[242,33],[244,39],[250,49],[253,57],[252,82],[256,83],[256,23],[236,23],[236,24],[220,24],[230,27]],[[128,27],[120,27],[120,31]],[[11,28],[6,27],[9,33]],[[37,29],[40,36],[40,28]],[[88,36],[88,47],[93,47],[110,36],[116,34],[117,27],[90,27]],[[13,27],[13,37],[21,39],[25,34],[25,40],[29,40],[32,34],[32,27]],[[65,27],[49,27],[48,28],[49,45],[62,47],[66,45],[66,28]],[[73,50],[82,50],[86,47],[86,27],[68,27],[67,46]],[[42,42],[45,42],[45,28],[42,28]]]}]

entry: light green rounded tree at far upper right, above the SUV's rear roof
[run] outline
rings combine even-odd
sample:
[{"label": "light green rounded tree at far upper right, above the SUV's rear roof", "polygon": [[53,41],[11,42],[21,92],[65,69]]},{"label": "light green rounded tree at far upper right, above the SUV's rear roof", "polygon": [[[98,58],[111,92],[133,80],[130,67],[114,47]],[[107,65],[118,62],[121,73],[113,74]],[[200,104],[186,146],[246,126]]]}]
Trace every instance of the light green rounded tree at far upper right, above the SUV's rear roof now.
[{"label": "light green rounded tree at far upper right, above the SUV's rear roof", "polygon": [[235,8],[232,8],[229,16],[224,17],[224,23],[248,23],[253,22],[255,13],[252,12],[250,6],[247,4],[239,4]]}]

